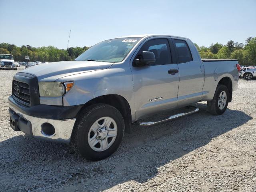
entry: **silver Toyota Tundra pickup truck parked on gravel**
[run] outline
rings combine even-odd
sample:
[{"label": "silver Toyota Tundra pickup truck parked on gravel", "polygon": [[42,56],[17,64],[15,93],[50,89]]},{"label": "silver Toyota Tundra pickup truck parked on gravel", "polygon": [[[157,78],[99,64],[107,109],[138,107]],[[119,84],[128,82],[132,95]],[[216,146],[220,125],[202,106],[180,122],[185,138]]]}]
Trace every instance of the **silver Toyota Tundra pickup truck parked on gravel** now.
[{"label": "silver Toyota Tundra pickup truck parked on gravel", "polygon": [[[192,114],[198,108],[190,105],[200,101],[207,101],[210,113],[223,114],[238,87],[239,71],[237,60],[201,60],[188,38],[114,38],[74,61],[15,74],[10,125],[34,138],[70,143],[88,160],[101,160],[116,151],[132,123],[152,126]],[[182,112],[141,122],[177,108]]]}]

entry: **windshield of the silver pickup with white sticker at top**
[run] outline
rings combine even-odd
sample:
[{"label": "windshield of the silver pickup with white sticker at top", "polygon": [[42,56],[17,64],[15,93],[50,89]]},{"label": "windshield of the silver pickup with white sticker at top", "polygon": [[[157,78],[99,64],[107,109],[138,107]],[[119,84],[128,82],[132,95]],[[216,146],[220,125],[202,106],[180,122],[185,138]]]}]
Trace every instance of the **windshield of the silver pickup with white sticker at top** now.
[{"label": "windshield of the silver pickup with white sticker at top", "polygon": [[120,62],[141,38],[117,38],[102,41],[82,53],[76,61]]}]

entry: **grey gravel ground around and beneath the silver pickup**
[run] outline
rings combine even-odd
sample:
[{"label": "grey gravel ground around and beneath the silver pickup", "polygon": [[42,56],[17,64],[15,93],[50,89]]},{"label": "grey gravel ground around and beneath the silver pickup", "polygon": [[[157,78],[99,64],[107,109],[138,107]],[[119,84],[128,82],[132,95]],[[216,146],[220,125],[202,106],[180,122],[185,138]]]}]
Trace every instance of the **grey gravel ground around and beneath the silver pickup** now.
[{"label": "grey gravel ground around and beneath the silver pickup", "polygon": [[15,73],[0,71],[0,191],[256,191],[256,80],[239,81],[222,116],[201,102],[198,113],[173,122],[134,125],[117,152],[90,162],[10,128]]}]

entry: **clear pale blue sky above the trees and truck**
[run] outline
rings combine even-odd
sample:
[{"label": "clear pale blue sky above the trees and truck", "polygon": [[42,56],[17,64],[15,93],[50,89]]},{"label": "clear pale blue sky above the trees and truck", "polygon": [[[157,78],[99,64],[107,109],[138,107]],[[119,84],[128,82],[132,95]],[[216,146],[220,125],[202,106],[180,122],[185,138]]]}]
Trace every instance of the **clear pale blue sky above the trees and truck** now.
[{"label": "clear pale blue sky above the trees and truck", "polygon": [[199,46],[256,36],[256,0],[0,0],[0,42],[92,46],[131,34],[184,36]]}]

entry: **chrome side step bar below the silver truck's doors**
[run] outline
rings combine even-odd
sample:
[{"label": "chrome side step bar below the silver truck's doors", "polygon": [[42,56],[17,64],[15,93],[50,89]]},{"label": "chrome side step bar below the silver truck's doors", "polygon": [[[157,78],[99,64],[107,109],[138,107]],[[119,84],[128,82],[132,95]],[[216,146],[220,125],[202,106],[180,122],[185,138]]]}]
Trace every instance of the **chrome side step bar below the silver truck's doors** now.
[{"label": "chrome side step bar below the silver truck's doors", "polygon": [[193,113],[196,113],[199,111],[199,108],[195,107],[195,106],[187,106],[185,108],[186,112],[182,112],[182,113],[178,113],[178,114],[174,114],[172,116],[170,116],[169,118],[167,119],[164,119],[164,120],[160,120],[160,121],[156,121],[156,122],[141,122],[141,123],[138,123],[140,126],[153,126],[153,125],[157,125],[157,124],[161,124],[161,123],[165,123],[165,122],[168,122],[170,120],[174,120],[174,119],[177,119],[177,118],[180,118],[180,117],[183,117],[183,116],[186,116],[186,115],[190,115],[190,114],[193,114]]}]

